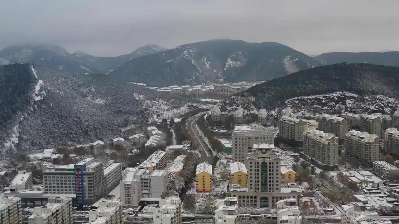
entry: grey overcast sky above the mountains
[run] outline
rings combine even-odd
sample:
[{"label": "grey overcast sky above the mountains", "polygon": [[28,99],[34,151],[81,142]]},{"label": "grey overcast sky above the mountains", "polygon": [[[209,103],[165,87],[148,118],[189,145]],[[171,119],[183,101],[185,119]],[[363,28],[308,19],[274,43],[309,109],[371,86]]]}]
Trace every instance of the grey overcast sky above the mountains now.
[{"label": "grey overcast sky above the mountains", "polygon": [[0,48],[41,41],[111,56],[228,38],[307,54],[399,50],[398,8],[397,0],[2,0]]}]

